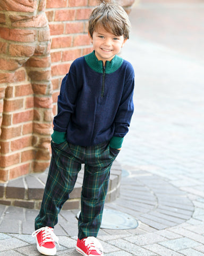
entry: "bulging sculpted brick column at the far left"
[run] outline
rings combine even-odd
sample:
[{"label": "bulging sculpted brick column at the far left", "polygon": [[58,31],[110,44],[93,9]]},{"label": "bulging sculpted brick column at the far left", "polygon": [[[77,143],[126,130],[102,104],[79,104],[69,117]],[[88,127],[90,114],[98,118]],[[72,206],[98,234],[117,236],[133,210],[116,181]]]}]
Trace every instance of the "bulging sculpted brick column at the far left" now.
[{"label": "bulging sculpted brick column at the far left", "polygon": [[52,132],[45,0],[0,2],[0,179],[44,171]]}]

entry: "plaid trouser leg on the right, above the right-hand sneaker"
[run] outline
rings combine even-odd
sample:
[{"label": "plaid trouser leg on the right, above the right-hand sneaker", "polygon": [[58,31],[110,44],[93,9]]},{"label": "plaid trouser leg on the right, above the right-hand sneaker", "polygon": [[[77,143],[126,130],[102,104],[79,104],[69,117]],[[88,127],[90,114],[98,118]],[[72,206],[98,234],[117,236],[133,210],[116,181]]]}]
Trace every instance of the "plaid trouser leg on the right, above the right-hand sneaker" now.
[{"label": "plaid trouser leg on the right, above the right-hand sneaker", "polygon": [[109,174],[118,152],[110,149],[107,143],[87,147],[78,223],[79,239],[97,237],[108,190]]}]

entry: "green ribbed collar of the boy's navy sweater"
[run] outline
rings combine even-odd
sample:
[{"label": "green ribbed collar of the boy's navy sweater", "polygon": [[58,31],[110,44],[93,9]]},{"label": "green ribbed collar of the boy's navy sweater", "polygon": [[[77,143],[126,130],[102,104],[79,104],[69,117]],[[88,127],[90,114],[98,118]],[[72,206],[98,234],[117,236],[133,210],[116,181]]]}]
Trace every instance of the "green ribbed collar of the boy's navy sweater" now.
[{"label": "green ribbed collar of the boy's navy sweater", "polygon": [[[95,51],[84,56],[88,66],[97,73],[103,73],[103,61],[98,60]],[[115,55],[111,61],[106,61],[106,74],[111,74],[121,67],[123,59]]]}]

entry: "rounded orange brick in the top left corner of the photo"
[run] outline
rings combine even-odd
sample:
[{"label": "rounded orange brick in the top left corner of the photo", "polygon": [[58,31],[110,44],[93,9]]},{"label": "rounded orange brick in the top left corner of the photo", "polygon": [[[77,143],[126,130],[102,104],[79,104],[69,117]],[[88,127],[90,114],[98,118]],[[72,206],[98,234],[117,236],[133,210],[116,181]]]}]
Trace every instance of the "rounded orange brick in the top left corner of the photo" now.
[{"label": "rounded orange brick in the top left corner of the photo", "polygon": [[37,1],[1,1],[0,10],[13,12],[34,12],[37,8]]}]

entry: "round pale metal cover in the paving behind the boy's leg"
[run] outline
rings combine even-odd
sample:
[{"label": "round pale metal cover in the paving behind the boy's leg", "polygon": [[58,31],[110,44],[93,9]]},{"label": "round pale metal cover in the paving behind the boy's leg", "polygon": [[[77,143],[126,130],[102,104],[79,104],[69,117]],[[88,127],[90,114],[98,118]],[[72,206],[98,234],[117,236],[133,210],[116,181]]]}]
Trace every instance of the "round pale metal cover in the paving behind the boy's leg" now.
[{"label": "round pale metal cover in the paving behind the boy's leg", "polygon": [[[79,218],[80,212],[77,214]],[[138,221],[129,214],[115,210],[104,209],[100,228],[104,229],[133,229],[138,227]]]}]

